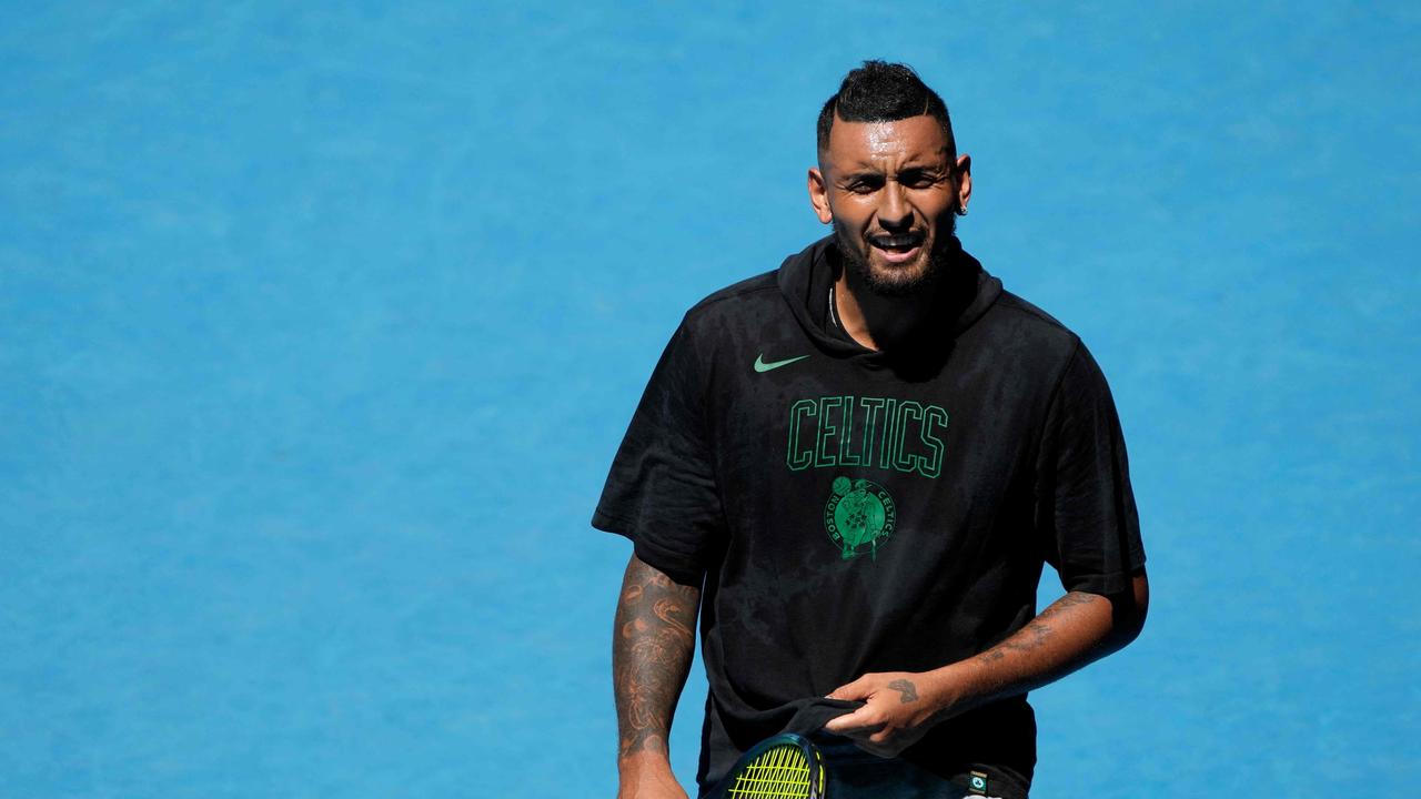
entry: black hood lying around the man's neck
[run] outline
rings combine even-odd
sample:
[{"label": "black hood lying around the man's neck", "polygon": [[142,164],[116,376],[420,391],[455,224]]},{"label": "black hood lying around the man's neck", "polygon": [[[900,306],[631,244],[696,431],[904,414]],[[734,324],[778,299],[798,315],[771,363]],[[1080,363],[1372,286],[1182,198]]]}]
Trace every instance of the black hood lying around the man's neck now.
[{"label": "black hood lying around the man's neck", "polygon": [[784,259],[776,280],[794,318],[820,350],[840,358],[860,358],[864,365],[884,367],[919,360],[925,353],[945,354],[951,343],[982,318],[1002,294],[1002,281],[988,274],[955,236],[948,257],[949,283],[941,311],[925,327],[922,347],[915,347],[915,351],[870,350],[830,321],[828,287],[838,270],[838,250],[833,235]]}]

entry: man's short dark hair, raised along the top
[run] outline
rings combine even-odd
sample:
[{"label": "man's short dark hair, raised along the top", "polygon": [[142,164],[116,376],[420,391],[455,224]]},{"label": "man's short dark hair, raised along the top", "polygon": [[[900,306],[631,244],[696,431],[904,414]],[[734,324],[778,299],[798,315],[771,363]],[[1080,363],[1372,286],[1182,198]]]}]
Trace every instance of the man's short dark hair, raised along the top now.
[{"label": "man's short dark hair, raised along the top", "polygon": [[952,119],[948,117],[948,105],[938,92],[928,88],[918,73],[907,64],[864,61],[863,67],[844,75],[838,91],[818,112],[818,152],[828,149],[828,132],[834,127],[834,117],[845,122],[894,122],[924,114],[942,127],[942,136],[948,141],[948,155],[956,158],[958,145],[952,138]]}]

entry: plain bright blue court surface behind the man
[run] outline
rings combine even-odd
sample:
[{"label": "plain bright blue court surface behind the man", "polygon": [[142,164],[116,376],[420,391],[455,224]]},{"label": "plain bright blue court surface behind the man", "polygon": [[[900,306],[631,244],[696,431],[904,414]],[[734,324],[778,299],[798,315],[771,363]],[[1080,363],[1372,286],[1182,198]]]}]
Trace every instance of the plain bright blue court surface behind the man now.
[{"label": "plain bright blue court surface behind the man", "polygon": [[1130,444],[1033,796],[1415,796],[1421,13],[1142,6],[6,4],[0,796],[612,796],[593,505],[870,57]]}]

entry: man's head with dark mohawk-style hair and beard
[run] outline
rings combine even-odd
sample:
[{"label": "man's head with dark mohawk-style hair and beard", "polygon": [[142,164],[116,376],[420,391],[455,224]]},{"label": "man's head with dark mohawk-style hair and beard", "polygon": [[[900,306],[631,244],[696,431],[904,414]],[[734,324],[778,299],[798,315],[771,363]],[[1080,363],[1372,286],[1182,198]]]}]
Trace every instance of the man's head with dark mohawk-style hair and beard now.
[{"label": "man's head with dark mohawk-style hair and beard", "polygon": [[809,191],[853,281],[888,296],[929,284],[972,193],[969,168],[946,105],[911,68],[865,61],[848,73],[820,112]]}]

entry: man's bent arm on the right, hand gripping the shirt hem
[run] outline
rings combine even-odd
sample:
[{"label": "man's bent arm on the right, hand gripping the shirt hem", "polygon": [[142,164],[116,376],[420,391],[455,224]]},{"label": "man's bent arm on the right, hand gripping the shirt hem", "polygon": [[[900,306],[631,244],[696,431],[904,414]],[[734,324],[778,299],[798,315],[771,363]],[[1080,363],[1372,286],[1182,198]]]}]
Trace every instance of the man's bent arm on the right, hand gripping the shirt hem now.
[{"label": "man's bent arm on the right, hand gripping the shirt hem", "polygon": [[875,755],[894,756],[934,724],[1040,688],[1124,647],[1140,634],[1148,607],[1144,569],[1134,574],[1131,590],[1118,596],[1071,591],[979,655],[925,672],[865,674],[834,690],[831,698],[865,704],[824,729]]}]

